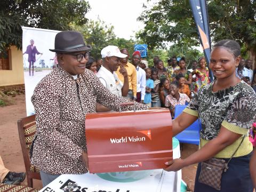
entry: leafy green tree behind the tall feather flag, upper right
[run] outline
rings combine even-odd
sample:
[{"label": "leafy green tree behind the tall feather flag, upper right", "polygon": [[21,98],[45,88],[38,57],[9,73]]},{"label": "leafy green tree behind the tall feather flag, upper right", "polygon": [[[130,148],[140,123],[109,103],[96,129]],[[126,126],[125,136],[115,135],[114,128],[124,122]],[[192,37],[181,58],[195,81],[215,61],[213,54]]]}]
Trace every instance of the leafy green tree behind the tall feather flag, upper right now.
[{"label": "leafy green tree behind the tall feather flag, upper right", "polygon": [[[148,0],[150,1],[150,0]],[[245,46],[251,57],[256,54],[256,1],[209,0],[212,42],[231,38]],[[146,6],[145,6],[146,7]],[[188,0],[160,0],[138,18],[145,28],[137,37],[149,47],[165,47],[164,42],[199,45],[199,38]],[[242,53],[245,54],[245,53]]]}]

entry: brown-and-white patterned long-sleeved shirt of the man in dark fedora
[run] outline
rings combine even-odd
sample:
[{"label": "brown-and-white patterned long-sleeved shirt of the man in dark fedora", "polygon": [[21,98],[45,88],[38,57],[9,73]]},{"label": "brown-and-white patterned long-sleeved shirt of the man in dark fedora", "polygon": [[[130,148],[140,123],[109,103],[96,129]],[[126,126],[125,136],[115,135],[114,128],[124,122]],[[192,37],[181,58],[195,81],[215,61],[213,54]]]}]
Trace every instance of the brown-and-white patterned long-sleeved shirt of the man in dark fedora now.
[{"label": "brown-and-white patterned long-sleeved shirt of the man in dark fedora", "polygon": [[[86,151],[86,114],[96,112],[96,102],[116,111],[120,103],[128,102],[110,93],[92,71],[85,69],[74,80],[60,66],[37,84],[31,101],[36,113],[36,138],[30,160],[49,174],[86,173],[79,159]],[[147,109],[137,102],[134,105],[137,110]]]}]

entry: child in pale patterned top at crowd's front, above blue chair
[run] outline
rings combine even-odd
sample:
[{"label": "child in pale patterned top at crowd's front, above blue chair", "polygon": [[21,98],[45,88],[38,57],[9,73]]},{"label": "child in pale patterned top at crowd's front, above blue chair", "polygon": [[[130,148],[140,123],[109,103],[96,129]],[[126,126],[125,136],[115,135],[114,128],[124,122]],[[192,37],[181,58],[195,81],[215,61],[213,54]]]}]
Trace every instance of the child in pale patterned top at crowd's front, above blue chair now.
[{"label": "child in pale patterned top at crowd's front, above blue chair", "polygon": [[186,105],[190,102],[188,95],[179,92],[179,84],[177,81],[170,85],[170,94],[165,98],[165,107],[169,108],[174,117],[175,107],[177,105]]}]

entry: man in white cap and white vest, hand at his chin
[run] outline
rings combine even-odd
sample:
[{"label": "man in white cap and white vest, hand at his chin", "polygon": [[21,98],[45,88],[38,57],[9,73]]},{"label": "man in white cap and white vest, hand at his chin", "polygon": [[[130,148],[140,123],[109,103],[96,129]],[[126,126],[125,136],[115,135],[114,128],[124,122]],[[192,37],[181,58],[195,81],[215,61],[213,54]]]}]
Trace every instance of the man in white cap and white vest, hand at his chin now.
[{"label": "man in white cap and white vest, hand at his chin", "polygon": [[[101,56],[103,59],[103,64],[100,67],[97,77],[99,77],[100,82],[107,87],[107,89],[121,97],[126,97],[129,91],[129,79],[126,69],[121,66],[121,58],[126,58],[127,55],[120,52],[117,46],[109,45],[101,50]],[[122,83],[115,71],[117,68],[119,73],[124,76],[124,83]],[[97,112],[109,111],[110,109],[97,104]]]}]

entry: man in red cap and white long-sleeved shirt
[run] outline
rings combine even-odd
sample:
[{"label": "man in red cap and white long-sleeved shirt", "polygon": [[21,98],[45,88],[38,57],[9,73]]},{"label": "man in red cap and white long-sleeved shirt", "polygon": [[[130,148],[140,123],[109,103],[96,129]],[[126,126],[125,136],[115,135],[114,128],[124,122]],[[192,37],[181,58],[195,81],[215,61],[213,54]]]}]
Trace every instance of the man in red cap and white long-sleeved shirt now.
[{"label": "man in red cap and white long-sleeved shirt", "polygon": [[146,93],[146,72],[139,67],[141,55],[139,51],[132,54],[132,65],[137,70],[137,102],[143,103]]}]

